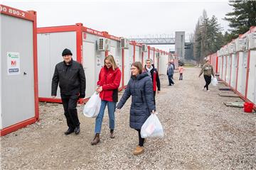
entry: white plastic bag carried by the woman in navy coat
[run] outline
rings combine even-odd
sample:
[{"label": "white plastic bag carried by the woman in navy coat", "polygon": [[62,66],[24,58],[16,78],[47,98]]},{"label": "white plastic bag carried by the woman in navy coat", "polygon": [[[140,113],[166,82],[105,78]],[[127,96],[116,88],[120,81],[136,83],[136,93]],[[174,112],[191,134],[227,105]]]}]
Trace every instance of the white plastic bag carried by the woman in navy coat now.
[{"label": "white plastic bag carried by the woman in navy coat", "polygon": [[146,137],[164,137],[164,129],[157,118],[156,113],[151,114],[142,125],[142,138]]}]

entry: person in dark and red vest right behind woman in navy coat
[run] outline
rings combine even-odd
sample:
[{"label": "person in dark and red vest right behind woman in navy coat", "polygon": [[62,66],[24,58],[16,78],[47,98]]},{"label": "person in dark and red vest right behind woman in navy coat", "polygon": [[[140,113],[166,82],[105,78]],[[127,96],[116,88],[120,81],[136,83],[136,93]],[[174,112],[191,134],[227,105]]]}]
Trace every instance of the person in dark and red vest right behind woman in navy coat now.
[{"label": "person in dark and red vest right behind woman in navy coat", "polygon": [[157,94],[160,91],[160,79],[157,69],[154,67],[153,61],[151,59],[146,60],[146,65],[144,67],[144,71],[149,74],[149,77],[153,83],[153,91],[154,91],[154,104],[156,105],[156,86],[157,86]]}]

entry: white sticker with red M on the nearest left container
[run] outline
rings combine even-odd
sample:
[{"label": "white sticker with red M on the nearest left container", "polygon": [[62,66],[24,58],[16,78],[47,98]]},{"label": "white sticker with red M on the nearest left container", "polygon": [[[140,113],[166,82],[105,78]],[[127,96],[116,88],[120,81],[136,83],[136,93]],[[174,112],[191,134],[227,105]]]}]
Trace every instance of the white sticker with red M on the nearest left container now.
[{"label": "white sticker with red M on the nearest left container", "polygon": [[7,73],[9,75],[21,73],[20,55],[18,52],[7,52]]}]

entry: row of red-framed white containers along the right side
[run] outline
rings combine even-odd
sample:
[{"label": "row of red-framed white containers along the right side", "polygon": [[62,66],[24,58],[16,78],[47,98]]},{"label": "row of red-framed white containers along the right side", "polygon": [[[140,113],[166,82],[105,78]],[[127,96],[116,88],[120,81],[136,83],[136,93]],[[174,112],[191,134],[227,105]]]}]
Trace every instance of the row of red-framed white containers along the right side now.
[{"label": "row of red-framed white containers along the right side", "polygon": [[256,108],[256,27],[209,55],[226,85]]}]

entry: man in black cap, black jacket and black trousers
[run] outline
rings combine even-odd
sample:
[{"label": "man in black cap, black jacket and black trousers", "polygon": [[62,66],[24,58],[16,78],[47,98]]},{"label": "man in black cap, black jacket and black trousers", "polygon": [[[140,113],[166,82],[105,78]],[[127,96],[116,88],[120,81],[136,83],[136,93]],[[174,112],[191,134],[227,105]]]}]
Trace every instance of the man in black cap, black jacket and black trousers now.
[{"label": "man in black cap, black jacket and black trousers", "polygon": [[73,132],[78,135],[80,122],[76,107],[78,99],[85,98],[85,71],[82,64],[72,59],[72,52],[67,48],[63,50],[62,56],[64,61],[55,66],[51,95],[53,98],[56,97],[59,84],[64,114],[68,124],[65,135]]}]

